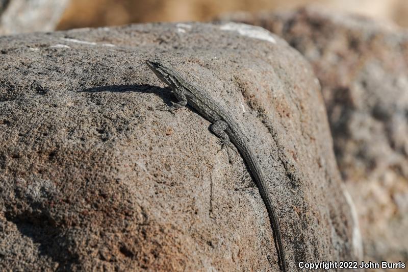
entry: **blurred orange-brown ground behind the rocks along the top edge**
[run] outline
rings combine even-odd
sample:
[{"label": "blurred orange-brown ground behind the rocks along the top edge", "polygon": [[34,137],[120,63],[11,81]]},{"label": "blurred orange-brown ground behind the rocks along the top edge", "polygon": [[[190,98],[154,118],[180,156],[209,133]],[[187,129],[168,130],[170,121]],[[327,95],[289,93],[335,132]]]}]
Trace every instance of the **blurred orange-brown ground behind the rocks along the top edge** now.
[{"label": "blurred orange-brown ground behind the rocks along the top edge", "polygon": [[224,13],[282,10],[314,3],[407,25],[406,0],[71,0],[58,29],[130,22],[207,21]]}]

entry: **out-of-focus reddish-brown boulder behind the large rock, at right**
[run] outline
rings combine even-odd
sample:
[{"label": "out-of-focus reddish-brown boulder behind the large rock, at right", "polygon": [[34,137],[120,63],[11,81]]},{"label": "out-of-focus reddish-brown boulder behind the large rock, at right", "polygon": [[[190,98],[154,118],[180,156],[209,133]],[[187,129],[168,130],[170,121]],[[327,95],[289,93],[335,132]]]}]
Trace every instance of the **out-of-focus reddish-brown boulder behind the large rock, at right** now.
[{"label": "out-of-focus reddish-brown boulder behind the large rock, at right", "polygon": [[282,35],[312,63],[366,259],[408,263],[408,32],[316,9],[238,20]]}]

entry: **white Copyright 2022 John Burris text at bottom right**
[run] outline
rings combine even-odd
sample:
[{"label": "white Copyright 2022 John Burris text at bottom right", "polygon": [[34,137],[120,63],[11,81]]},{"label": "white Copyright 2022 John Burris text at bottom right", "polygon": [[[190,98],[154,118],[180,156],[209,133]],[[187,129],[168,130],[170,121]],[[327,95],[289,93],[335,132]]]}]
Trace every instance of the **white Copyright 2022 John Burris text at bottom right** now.
[{"label": "white Copyright 2022 John Burris text at bottom right", "polygon": [[299,262],[297,266],[301,269],[308,270],[330,270],[334,268],[343,269],[367,269],[367,268],[382,268],[382,269],[404,269],[404,262],[356,262],[356,261],[339,261],[339,262]]}]

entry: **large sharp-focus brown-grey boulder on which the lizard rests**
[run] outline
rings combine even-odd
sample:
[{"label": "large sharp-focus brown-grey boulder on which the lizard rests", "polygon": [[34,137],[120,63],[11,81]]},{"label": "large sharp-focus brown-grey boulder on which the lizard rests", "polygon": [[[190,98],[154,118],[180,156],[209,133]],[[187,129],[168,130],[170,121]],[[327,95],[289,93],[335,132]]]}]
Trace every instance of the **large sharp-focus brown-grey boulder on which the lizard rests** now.
[{"label": "large sharp-focus brown-grey boulder on which the lizard rests", "polygon": [[278,271],[239,155],[144,63],[160,57],[230,109],[275,200],[290,271],[355,259],[312,68],[243,24],[145,24],[0,37],[0,267]]}]

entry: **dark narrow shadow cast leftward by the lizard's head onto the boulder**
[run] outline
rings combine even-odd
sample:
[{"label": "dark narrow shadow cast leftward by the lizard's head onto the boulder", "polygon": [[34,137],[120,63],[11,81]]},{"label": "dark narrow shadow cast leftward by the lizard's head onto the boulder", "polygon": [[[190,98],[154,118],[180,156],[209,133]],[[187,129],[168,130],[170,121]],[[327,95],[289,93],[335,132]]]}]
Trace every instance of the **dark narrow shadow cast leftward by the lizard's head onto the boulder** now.
[{"label": "dark narrow shadow cast leftward by the lizard's head onto the boulder", "polygon": [[140,93],[154,93],[157,94],[167,106],[171,106],[173,103],[177,102],[175,96],[173,95],[170,87],[158,87],[153,85],[138,85],[138,84],[127,84],[127,85],[107,85],[100,87],[92,87],[84,89],[78,92],[140,92]]}]

